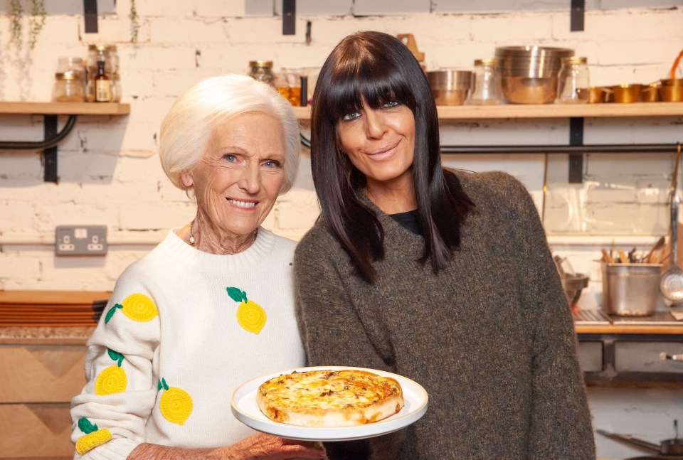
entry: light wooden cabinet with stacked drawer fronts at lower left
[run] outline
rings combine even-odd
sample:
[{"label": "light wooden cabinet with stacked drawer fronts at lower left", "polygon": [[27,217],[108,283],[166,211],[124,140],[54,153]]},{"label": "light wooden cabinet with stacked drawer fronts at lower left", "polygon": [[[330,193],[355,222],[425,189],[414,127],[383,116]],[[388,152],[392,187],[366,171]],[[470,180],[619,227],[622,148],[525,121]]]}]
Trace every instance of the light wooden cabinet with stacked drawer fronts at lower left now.
[{"label": "light wooden cabinet with stacked drawer fronts at lower left", "polygon": [[0,459],[72,459],[70,400],[85,385],[85,336],[12,341],[0,338]]}]

